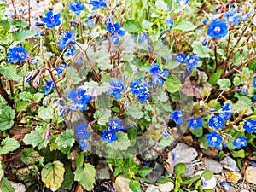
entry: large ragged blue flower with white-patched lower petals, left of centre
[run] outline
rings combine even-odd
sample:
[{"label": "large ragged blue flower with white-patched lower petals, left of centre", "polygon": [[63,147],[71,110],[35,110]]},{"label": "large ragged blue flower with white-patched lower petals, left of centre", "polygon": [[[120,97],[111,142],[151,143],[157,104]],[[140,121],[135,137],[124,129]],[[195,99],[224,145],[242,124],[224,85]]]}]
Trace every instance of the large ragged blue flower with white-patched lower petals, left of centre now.
[{"label": "large ragged blue flower with white-patched lower petals, left of centre", "polygon": [[85,93],[86,90],[81,88],[67,92],[67,98],[73,100],[73,104],[69,107],[71,111],[76,109],[84,111],[87,108],[87,103],[92,100],[92,96],[85,95]]}]

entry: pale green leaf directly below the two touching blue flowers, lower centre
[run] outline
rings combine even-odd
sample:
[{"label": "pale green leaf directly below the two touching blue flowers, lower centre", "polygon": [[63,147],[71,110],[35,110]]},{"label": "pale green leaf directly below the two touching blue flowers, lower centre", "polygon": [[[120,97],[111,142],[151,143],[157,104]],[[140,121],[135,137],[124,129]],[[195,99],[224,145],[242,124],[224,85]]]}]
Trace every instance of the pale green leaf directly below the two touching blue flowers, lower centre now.
[{"label": "pale green leaf directly below the two touching blue flowers, lower centre", "polygon": [[109,147],[116,150],[127,150],[131,146],[130,139],[128,138],[127,133],[119,132],[116,134],[118,140],[109,144]]}]

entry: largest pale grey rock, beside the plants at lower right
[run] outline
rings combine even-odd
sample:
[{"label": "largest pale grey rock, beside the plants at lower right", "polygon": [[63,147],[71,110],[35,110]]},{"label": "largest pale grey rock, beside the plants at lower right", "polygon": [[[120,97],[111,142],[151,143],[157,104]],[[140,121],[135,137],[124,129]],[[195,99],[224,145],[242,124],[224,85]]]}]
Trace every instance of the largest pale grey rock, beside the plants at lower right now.
[{"label": "largest pale grey rock, beside the plants at lower right", "polygon": [[197,157],[198,153],[195,148],[191,148],[186,144],[178,143],[176,148],[173,148],[174,164],[191,163]]}]

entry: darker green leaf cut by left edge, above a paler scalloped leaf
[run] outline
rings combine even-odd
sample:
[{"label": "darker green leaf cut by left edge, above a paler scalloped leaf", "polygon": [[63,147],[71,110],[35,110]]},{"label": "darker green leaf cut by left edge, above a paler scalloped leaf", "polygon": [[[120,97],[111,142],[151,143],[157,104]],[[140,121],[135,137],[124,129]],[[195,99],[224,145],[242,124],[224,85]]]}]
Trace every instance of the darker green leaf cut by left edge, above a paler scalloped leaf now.
[{"label": "darker green leaf cut by left edge, above a paler scalloped leaf", "polygon": [[6,105],[0,105],[0,131],[9,130],[13,125],[15,119],[15,110]]}]

